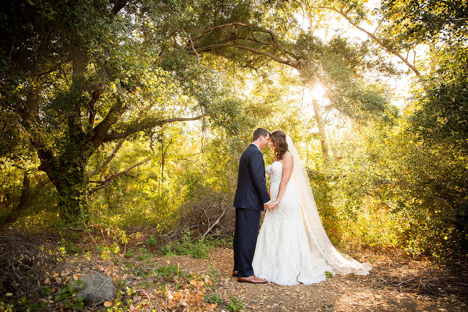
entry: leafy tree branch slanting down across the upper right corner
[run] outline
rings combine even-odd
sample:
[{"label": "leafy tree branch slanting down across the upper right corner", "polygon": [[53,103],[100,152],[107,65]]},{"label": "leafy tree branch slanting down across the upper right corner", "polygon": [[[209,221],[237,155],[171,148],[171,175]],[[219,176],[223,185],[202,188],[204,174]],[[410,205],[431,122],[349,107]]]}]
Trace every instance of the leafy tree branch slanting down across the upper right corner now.
[{"label": "leafy tree branch slanting down across the upper right corner", "polygon": [[[373,21],[377,24],[374,30],[360,25],[370,22],[364,1],[304,1],[302,6],[309,12],[329,10],[341,15],[381,49],[398,57],[417,76],[422,74],[422,68],[416,64],[415,48],[429,44],[432,54],[441,42],[448,44],[451,36],[458,34],[459,39],[465,36],[468,21],[468,7],[464,1],[384,0],[373,11],[377,17]],[[414,52],[412,61],[409,60],[410,51]],[[432,58],[431,62],[435,60]]]}]

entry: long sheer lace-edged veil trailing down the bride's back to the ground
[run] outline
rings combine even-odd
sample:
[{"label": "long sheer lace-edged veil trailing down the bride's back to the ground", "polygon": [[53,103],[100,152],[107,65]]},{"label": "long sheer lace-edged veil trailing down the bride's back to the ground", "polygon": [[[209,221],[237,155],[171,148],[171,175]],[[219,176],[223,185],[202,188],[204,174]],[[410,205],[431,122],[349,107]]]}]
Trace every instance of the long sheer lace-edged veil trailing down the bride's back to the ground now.
[{"label": "long sheer lace-edged veil trailing down the bride's back to the ground", "polygon": [[369,274],[369,271],[372,270],[372,266],[369,263],[360,263],[347,254],[339,253],[331,243],[322,226],[304,164],[289,136],[286,136],[286,142],[289,152],[291,152],[294,158],[292,179],[299,190],[302,217],[313,259],[322,254],[323,258],[333,268],[333,272],[337,274]]}]

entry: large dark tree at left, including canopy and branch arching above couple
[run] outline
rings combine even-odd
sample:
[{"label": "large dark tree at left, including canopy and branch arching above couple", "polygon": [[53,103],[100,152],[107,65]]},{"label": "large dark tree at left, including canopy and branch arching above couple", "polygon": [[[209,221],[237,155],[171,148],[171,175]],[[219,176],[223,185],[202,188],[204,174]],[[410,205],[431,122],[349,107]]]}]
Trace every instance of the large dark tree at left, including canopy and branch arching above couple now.
[{"label": "large dark tree at left, including canopy and branch arching above couple", "polygon": [[[89,194],[151,159],[102,178],[124,140],[200,119],[235,133],[248,118],[225,73],[261,71],[269,62],[307,64],[317,79],[333,80],[299,31],[296,8],[282,1],[5,4],[1,107],[37,152],[39,170],[57,189],[61,218],[85,216]],[[367,101],[355,95],[342,98]],[[112,152],[91,167],[103,145]]]}]

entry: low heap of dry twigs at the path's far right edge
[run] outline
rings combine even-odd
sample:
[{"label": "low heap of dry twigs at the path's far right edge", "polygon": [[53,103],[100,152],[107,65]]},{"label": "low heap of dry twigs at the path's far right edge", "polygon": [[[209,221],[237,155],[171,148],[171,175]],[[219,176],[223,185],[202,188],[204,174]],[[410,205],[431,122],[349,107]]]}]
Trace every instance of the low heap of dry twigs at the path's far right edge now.
[{"label": "low heap of dry twigs at the path's far right edge", "polygon": [[437,297],[468,298],[468,274],[455,270],[431,270],[409,274],[390,282],[399,290]]}]

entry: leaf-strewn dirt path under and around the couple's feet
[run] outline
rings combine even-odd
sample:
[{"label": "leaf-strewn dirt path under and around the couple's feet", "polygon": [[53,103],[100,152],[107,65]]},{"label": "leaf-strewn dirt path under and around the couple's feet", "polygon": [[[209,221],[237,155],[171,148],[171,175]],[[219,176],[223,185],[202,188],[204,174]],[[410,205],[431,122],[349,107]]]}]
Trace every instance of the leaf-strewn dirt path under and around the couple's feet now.
[{"label": "leaf-strewn dirt path under and around the couple's feet", "polygon": [[186,272],[218,272],[214,278],[217,292],[224,302],[231,296],[241,298],[244,311],[468,311],[467,302],[457,297],[429,297],[399,290],[397,278],[430,268],[429,261],[401,261],[385,254],[362,254],[373,270],[367,276],[336,276],[319,284],[288,287],[274,283],[238,283],[232,277],[233,252],[230,249],[213,250],[207,259],[194,259],[190,255],[157,259],[161,265],[180,264]]}]

